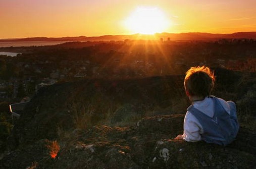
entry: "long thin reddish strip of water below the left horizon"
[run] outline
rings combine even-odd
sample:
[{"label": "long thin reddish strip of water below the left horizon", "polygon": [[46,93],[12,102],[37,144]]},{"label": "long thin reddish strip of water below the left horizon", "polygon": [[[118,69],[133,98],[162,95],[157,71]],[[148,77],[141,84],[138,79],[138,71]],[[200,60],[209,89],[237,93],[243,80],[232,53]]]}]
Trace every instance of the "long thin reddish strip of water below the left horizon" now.
[{"label": "long thin reddish strip of water below the left horizon", "polygon": [[34,41],[34,42],[0,42],[0,47],[19,47],[19,46],[45,46],[45,45],[55,45],[65,43],[66,41],[53,41],[53,42],[44,42],[44,41]]}]

